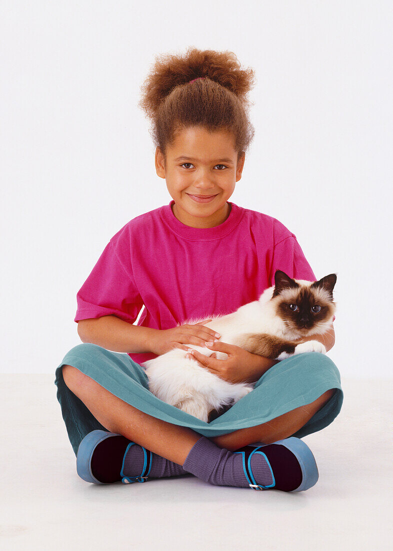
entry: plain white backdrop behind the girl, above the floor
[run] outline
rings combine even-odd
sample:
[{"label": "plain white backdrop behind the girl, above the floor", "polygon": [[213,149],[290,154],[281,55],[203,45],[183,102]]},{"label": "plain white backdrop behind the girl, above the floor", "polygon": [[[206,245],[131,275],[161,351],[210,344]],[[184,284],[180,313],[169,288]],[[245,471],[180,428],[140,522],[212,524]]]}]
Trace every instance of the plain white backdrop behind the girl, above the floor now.
[{"label": "plain white backdrop behind the girl, above the floor", "polygon": [[[390,2],[2,2],[2,372],[53,373],[110,237],[168,204],[140,86],[159,53],[230,50],[256,129],[229,199],[337,273],[342,376],[390,377]],[[53,392],[55,392],[53,387]]]}]

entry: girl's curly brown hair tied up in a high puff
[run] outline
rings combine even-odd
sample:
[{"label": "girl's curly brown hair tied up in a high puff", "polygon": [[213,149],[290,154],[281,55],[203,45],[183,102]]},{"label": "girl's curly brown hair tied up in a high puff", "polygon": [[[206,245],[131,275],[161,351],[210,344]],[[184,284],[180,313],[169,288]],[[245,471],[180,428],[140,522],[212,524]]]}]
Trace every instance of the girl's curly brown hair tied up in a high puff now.
[{"label": "girl's curly brown hair tied up in a high puff", "polygon": [[[204,78],[190,82],[197,77]],[[246,94],[255,80],[253,69],[241,69],[230,51],[189,47],[183,56],[156,56],[138,105],[152,121],[150,133],[164,159],[179,131],[201,126],[233,133],[239,160],[254,136],[247,112],[253,102]]]}]

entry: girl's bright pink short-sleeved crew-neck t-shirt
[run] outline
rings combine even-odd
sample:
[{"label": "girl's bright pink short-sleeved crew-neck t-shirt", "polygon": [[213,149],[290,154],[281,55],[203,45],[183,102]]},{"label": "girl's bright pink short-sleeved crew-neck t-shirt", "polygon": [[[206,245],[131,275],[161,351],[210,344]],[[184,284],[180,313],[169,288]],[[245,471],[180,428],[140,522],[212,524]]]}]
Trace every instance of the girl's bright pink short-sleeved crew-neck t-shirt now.
[{"label": "girl's bright pink short-sleeved crew-neck t-shirt", "polygon": [[[274,285],[274,272],[314,281],[296,236],[279,220],[228,202],[222,224],[191,228],[168,205],[133,218],[105,247],[76,295],[74,321],[114,315],[169,329],[230,314]],[[129,356],[137,363],[153,353]]]}]

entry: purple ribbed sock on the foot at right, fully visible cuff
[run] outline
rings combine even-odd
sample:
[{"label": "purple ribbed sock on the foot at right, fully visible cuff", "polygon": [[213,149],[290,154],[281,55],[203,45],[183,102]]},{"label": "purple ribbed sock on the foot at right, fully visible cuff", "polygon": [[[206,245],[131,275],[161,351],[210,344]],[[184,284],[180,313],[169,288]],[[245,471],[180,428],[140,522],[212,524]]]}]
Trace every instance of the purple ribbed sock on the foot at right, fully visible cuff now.
[{"label": "purple ribbed sock on the foot at right, fully visible cuff", "polygon": [[[254,453],[250,463],[257,484],[269,486],[273,483],[272,471],[263,455]],[[243,469],[242,453],[219,448],[204,436],[191,448],[183,468],[205,482],[217,486],[250,487]]]}]

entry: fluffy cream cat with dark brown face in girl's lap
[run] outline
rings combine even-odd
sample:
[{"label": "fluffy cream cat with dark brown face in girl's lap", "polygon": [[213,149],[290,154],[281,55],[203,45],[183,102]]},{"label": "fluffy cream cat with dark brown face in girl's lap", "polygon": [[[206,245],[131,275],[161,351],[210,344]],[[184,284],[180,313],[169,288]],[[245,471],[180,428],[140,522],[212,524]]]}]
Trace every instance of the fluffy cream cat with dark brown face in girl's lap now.
[{"label": "fluffy cream cat with dark brown face in girl's lap", "polygon": [[[333,300],[336,279],[333,273],[309,282],[292,279],[277,270],[273,287],[265,289],[258,300],[240,306],[231,314],[215,316],[204,325],[220,333],[222,342],[265,358],[283,360],[303,352],[325,354],[322,343],[302,342],[302,338],[328,331],[336,310]],[[184,323],[195,324],[205,319]],[[207,356],[213,353],[199,345],[190,347]],[[186,354],[185,350],[173,348],[142,363],[149,390],[164,402],[208,422],[212,410],[233,405],[253,390],[253,383],[224,381],[196,359],[186,358]],[[218,359],[228,358],[223,352],[216,354]]]}]

